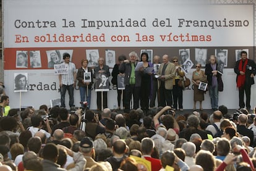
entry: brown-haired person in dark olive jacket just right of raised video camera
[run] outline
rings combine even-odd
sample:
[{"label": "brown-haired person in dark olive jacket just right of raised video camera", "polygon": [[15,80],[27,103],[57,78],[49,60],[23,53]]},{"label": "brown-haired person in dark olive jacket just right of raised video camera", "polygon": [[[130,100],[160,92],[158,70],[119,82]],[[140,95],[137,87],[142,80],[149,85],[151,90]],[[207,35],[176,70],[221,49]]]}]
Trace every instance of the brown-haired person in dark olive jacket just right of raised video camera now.
[{"label": "brown-haired person in dark olive jacket just right of raised video camera", "polygon": [[104,125],[99,122],[98,115],[96,115],[93,111],[87,110],[85,119],[87,120],[85,125],[85,133],[87,136],[94,140],[95,136],[99,133],[105,133]]}]

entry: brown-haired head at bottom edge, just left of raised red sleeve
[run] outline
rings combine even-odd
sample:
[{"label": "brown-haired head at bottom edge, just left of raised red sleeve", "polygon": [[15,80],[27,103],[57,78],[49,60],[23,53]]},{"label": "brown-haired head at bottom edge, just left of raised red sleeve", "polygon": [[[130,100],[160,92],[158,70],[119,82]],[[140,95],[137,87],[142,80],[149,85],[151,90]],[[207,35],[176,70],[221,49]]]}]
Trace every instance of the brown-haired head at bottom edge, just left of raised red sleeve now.
[{"label": "brown-haired head at bottom edge, just left of raised red sleeve", "polygon": [[215,158],[210,151],[200,150],[195,156],[195,164],[201,165],[204,171],[213,171]]}]

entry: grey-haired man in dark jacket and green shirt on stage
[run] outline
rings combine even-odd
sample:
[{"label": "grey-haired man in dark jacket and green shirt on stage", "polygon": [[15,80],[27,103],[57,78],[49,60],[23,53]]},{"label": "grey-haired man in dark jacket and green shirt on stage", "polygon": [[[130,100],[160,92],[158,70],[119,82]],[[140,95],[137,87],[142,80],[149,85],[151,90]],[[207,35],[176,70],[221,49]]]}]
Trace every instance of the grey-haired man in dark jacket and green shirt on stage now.
[{"label": "grey-haired man in dark jacket and green shirt on stage", "polygon": [[132,99],[132,95],[134,97],[133,109],[139,108],[139,94],[142,80],[142,73],[139,70],[135,70],[137,65],[136,59],[138,58],[137,53],[132,51],[129,53],[129,57],[130,60],[124,60],[124,62],[119,67],[119,71],[121,73],[125,73],[124,84],[126,85],[126,89],[124,90],[124,112],[130,111],[130,101]]}]

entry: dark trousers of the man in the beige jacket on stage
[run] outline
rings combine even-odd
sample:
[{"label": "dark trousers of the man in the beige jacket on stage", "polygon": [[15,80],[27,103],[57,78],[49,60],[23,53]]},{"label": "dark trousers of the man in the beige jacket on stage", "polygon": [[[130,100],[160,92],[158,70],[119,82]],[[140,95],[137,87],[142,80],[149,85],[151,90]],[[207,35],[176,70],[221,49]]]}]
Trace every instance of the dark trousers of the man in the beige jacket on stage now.
[{"label": "dark trousers of the man in the beige jacket on stage", "polygon": [[173,90],[167,90],[164,87],[164,83],[161,83],[160,88],[159,88],[159,99],[160,99],[160,104],[158,106],[172,106],[173,105],[173,95],[172,95]]}]

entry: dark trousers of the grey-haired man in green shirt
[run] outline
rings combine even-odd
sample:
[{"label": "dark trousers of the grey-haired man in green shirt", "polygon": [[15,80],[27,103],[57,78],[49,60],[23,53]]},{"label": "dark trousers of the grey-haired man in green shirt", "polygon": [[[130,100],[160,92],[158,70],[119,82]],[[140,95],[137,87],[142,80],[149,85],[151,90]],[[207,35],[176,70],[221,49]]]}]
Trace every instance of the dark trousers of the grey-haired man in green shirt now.
[{"label": "dark trousers of the grey-haired man in green shirt", "polygon": [[124,91],[124,94],[125,94],[124,107],[126,107],[126,110],[131,109],[130,100],[132,99],[132,95],[134,96],[133,109],[138,109],[139,108],[139,100],[140,100],[140,87],[135,86],[135,85],[127,85],[126,90]]}]

